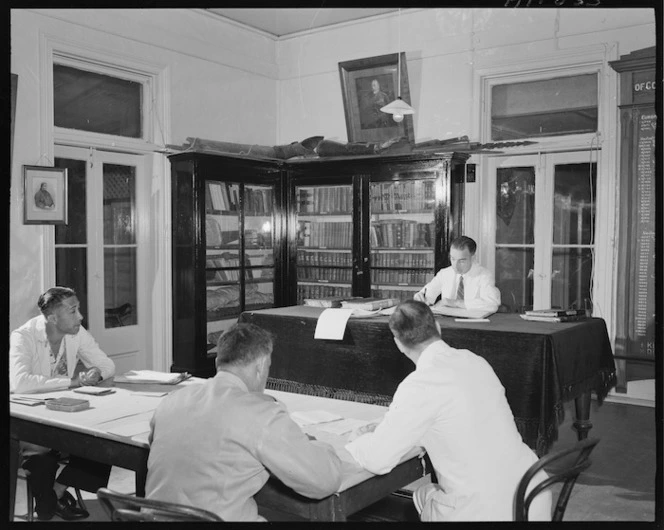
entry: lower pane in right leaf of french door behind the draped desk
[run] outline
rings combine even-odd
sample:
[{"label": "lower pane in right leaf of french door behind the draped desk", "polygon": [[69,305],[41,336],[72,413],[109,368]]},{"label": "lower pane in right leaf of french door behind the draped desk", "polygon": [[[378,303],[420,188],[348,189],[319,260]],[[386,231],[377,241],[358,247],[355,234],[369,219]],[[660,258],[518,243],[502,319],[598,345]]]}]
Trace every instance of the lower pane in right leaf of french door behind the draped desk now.
[{"label": "lower pane in right leaf of french door behind the draped desk", "polygon": [[592,251],[555,249],[551,267],[551,307],[592,310]]}]

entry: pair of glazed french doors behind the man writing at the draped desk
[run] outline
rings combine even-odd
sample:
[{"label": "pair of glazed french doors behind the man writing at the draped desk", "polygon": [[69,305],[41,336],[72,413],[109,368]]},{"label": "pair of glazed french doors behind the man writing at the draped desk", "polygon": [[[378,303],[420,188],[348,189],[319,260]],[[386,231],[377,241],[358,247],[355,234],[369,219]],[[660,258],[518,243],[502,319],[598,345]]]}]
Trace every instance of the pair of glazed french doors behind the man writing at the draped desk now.
[{"label": "pair of glazed french doors behind the man writing at the draped desk", "polygon": [[588,152],[493,157],[484,241],[508,311],[592,311],[597,164]]}]

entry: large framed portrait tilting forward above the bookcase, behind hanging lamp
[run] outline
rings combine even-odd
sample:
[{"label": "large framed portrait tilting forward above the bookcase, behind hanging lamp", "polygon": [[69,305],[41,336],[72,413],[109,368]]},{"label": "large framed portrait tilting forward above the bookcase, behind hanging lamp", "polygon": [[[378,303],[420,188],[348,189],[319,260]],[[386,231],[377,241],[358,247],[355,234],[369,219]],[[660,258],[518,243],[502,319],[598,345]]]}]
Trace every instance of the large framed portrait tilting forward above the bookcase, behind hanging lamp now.
[{"label": "large framed portrait tilting forward above the bookcase, behind hanging lamp", "polygon": [[[355,59],[339,63],[341,92],[346,114],[349,142],[384,142],[392,138],[405,138],[414,143],[413,116],[406,115],[397,123],[390,114],[380,112],[380,106],[394,101],[399,94],[410,105],[406,54],[389,53],[377,57]],[[401,91],[398,66],[401,65]],[[372,86],[378,84],[376,92]]]}]

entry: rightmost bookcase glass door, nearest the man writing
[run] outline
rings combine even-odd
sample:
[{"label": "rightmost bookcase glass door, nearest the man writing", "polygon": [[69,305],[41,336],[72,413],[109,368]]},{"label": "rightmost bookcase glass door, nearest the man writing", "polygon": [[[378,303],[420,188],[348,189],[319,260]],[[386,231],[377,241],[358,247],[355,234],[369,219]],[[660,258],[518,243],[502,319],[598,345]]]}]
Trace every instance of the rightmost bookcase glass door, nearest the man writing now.
[{"label": "rightmost bookcase glass door, nearest the man writing", "polygon": [[407,300],[432,278],[436,175],[418,175],[370,184],[372,296]]}]

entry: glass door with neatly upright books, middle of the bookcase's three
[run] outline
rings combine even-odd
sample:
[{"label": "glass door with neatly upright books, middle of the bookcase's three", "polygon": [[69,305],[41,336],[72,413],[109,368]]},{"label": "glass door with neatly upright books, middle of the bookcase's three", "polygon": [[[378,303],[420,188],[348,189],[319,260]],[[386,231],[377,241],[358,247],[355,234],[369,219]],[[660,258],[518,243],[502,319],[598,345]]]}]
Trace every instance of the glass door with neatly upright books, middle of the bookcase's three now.
[{"label": "glass door with neatly upright books, middle of the bookcase's three", "polygon": [[353,274],[352,185],[302,185],[297,207],[297,303],[350,297]]}]

